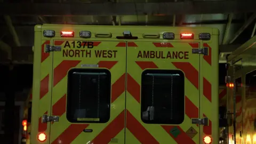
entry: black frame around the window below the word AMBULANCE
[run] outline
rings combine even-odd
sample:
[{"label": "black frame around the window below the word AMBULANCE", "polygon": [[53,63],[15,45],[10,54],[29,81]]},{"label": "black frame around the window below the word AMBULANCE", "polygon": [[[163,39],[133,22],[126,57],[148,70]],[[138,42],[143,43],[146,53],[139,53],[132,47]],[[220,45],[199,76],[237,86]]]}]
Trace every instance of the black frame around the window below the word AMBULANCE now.
[{"label": "black frame around the window below the word AMBULANCE", "polygon": [[[158,73],[156,73],[156,71],[158,72]],[[162,71],[162,72],[161,72]],[[169,73],[167,73],[169,71]],[[175,72],[176,71],[176,72]],[[143,109],[143,85],[142,85],[142,83],[143,83],[143,76],[145,76],[145,73],[153,73],[153,74],[179,74],[180,76],[181,76],[181,79],[180,79],[180,81],[182,81],[182,85],[183,85],[183,93],[181,94],[181,95],[183,95],[183,113],[182,113],[182,115],[183,115],[183,118],[182,118],[182,121],[180,121],[179,123],[172,123],[172,122],[165,122],[165,123],[163,123],[162,121],[156,121],[156,120],[153,120],[153,121],[151,121],[150,122],[150,120],[145,120],[145,119],[143,119],[142,118],[142,113],[143,113],[143,111],[142,111],[142,109]],[[182,71],[182,70],[180,70],[180,69],[145,69],[145,70],[143,70],[142,71],[142,73],[141,73],[141,85],[140,85],[140,88],[141,88],[141,92],[140,92],[140,94],[141,94],[141,102],[140,102],[140,118],[141,118],[141,121],[143,122],[143,123],[146,123],[146,124],[173,124],[173,125],[179,125],[179,124],[182,124],[184,121],[185,121],[185,107],[186,107],[186,105],[185,105],[185,73]]]}]

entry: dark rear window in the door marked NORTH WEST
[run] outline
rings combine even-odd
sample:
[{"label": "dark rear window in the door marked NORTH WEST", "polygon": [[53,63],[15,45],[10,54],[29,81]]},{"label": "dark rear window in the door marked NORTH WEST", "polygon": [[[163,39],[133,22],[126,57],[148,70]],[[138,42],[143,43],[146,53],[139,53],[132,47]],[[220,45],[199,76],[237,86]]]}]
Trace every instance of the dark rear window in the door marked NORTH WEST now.
[{"label": "dark rear window in the door marked NORTH WEST", "polygon": [[71,123],[106,123],[110,118],[110,71],[68,72],[67,119]]}]

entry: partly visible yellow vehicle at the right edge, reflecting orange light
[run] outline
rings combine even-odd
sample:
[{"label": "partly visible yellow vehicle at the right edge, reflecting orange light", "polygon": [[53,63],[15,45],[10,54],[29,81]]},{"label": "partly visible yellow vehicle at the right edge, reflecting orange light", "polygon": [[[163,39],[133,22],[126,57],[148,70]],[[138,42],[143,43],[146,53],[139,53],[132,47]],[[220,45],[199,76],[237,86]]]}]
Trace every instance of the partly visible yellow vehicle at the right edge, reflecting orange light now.
[{"label": "partly visible yellow vehicle at the right edge, reflecting orange light", "polygon": [[[229,143],[256,143],[256,36],[228,57]],[[234,86],[233,86],[234,85]],[[235,117],[234,117],[235,112]]]}]

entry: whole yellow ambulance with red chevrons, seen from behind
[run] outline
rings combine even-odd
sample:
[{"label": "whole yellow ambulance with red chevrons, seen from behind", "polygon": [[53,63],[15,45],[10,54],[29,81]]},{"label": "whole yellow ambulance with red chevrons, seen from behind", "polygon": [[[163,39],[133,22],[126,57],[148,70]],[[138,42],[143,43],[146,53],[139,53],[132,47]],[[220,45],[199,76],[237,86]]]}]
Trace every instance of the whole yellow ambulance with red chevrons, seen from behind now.
[{"label": "whole yellow ambulance with red chevrons, seen from behind", "polygon": [[30,143],[219,143],[219,30],[37,25]]}]

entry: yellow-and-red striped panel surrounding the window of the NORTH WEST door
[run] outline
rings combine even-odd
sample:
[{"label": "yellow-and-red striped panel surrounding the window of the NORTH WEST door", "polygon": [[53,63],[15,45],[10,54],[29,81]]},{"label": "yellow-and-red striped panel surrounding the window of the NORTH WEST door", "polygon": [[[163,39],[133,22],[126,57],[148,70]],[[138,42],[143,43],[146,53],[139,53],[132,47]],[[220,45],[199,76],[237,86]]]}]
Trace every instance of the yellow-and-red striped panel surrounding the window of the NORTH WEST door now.
[{"label": "yellow-and-red striped panel surrounding the window of the NORTH WEST door", "polygon": [[[90,142],[92,140],[95,143],[108,143],[108,141],[103,141],[108,140],[104,139],[104,137],[106,137],[104,135],[107,134],[118,139],[118,141],[120,141],[119,143],[123,143],[121,141],[124,140],[124,132],[119,134],[118,137],[115,136],[124,127],[126,47],[118,46],[119,42],[91,41],[93,43],[93,48],[88,49],[87,46],[85,46],[86,44],[81,41],[84,40],[54,40],[54,45],[60,45],[63,47],[61,52],[56,52],[53,55],[54,70],[52,90],[52,115],[60,116],[59,121],[61,123],[56,122],[51,125],[51,143],[58,143],[59,140],[67,143],[71,143],[73,140],[74,143],[79,143],[79,141]],[[75,46],[73,45],[74,42]],[[80,42],[84,46],[80,47]],[[67,91],[63,90],[63,87],[67,87],[68,84],[67,74],[70,73],[71,70],[75,70],[75,68],[90,69],[90,66],[86,67],[84,65],[95,64],[98,65],[98,68],[108,69],[111,73],[112,97],[110,119],[106,123],[78,123],[80,121],[99,122],[100,119],[77,117],[78,124],[70,123],[66,118],[67,115],[65,114],[66,99],[69,100],[69,98],[67,98]],[[91,69],[95,70],[93,67],[91,67]],[[82,132],[84,129],[93,131],[87,133]],[[67,132],[65,133],[63,131]],[[70,134],[69,132],[72,133]],[[74,138],[71,139],[70,137]]]}]

